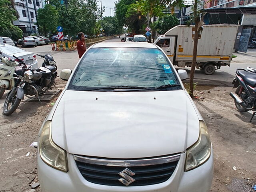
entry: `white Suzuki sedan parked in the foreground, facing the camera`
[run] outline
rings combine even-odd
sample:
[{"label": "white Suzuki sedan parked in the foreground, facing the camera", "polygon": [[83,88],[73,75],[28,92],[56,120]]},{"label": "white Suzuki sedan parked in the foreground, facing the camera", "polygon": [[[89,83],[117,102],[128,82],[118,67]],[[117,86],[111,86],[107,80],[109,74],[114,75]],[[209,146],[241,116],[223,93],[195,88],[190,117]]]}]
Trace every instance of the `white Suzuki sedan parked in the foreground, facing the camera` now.
[{"label": "white Suzuki sedan parked in the foreground, facing the camera", "polygon": [[185,70],[148,43],[98,43],[74,71],[38,139],[43,192],[208,192],[213,152]]}]

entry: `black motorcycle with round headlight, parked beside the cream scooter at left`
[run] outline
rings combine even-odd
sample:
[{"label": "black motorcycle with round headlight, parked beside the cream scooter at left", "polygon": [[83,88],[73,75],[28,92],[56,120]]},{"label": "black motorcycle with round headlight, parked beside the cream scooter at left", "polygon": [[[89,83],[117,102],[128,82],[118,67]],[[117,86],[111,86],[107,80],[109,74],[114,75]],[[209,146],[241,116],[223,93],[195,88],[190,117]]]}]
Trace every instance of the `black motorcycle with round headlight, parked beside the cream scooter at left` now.
[{"label": "black motorcycle with round headlight, parked beside the cream scooter at left", "polygon": [[[19,106],[20,101],[24,99],[24,96],[35,99],[46,92],[54,84],[54,80],[57,76],[56,68],[54,66],[45,66],[39,68],[28,67],[26,62],[20,60],[16,56],[13,56],[19,63],[18,70],[14,73],[16,79],[14,87],[7,94],[4,102],[4,115],[12,114]],[[34,96],[34,97],[30,97]]]}]

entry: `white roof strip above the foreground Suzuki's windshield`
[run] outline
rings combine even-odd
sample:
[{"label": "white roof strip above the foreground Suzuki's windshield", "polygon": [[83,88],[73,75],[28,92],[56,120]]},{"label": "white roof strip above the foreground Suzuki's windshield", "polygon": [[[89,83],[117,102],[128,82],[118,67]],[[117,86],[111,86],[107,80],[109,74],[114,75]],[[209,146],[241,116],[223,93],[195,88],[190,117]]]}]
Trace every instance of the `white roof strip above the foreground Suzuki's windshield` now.
[{"label": "white roof strip above the foreground Suzuki's windshield", "polygon": [[126,42],[101,42],[94,44],[92,48],[103,48],[103,47],[138,47],[138,48],[157,48],[152,43],[126,43]]}]

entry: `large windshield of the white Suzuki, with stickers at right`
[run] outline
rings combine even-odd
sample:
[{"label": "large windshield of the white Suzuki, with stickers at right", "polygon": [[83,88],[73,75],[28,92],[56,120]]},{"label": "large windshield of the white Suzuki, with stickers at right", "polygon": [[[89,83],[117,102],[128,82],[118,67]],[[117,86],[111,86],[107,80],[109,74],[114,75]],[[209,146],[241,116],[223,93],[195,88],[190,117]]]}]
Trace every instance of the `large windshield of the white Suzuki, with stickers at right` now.
[{"label": "large windshield of the white Suzuki, with stickers at right", "polygon": [[156,48],[91,48],[82,58],[68,89],[181,89],[174,70],[164,53]]}]

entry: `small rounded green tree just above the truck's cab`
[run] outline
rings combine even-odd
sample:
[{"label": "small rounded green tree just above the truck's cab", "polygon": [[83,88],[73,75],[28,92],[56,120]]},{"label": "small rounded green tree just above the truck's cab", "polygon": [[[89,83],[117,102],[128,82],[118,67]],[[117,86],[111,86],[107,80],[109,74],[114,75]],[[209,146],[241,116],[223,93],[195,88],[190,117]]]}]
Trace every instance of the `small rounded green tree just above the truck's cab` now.
[{"label": "small rounded green tree just above the truck's cab", "polygon": [[178,19],[172,14],[165,14],[154,22],[154,28],[159,34],[165,34],[169,29],[178,25]]}]

